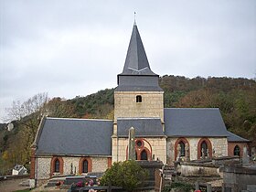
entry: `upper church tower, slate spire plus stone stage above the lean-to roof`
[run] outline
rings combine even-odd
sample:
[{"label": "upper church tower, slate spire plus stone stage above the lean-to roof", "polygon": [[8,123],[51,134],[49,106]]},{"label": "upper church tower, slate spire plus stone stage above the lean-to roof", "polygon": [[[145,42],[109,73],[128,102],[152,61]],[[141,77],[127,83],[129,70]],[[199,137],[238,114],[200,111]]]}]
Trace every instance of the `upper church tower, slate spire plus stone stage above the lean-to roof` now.
[{"label": "upper church tower, slate spire plus stone stage above the lean-to roof", "polygon": [[123,72],[114,91],[114,121],[117,118],[160,118],[164,122],[164,91],[159,76],[149,66],[138,27],[134,23]]}]

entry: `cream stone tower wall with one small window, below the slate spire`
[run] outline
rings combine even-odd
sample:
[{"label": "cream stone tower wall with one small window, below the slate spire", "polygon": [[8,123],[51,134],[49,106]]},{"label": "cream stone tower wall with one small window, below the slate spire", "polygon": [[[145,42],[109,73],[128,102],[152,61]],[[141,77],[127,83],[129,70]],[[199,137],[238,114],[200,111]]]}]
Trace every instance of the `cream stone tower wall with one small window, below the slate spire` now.
[{"label": "cream stone tower wall with one small window, below the slate spire", "polygon": [[[163,91],[115,91],[114,122],[119,117],[155,117],[164,122]],[[136,102],[136,96],[142,102]]]}]

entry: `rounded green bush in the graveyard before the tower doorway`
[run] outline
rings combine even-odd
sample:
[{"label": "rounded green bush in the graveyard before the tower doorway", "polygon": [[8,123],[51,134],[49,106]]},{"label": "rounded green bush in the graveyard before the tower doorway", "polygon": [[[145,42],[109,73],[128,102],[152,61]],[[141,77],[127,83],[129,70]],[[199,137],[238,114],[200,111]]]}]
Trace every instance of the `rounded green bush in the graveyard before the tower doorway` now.
[{"label": "rounded green bush in the graveyard before the tower doorway", "polygon": [[133,160],[113,163],[101,178],[102,186],[123,187],[124,190],[133,191],[140,187],[148,176],[148,171]]}]

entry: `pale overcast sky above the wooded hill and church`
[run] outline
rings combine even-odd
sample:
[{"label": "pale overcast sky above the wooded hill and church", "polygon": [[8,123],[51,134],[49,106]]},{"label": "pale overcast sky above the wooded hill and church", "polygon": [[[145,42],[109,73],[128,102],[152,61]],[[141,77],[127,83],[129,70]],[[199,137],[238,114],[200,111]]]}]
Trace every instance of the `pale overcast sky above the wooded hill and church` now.
[{"label": "pale overcast sky above the wooded hill and church", "polygon": [[151,69],[256,76],[255,0],[0,0],[0,122],[39,92],[72,99],[116,86],[133,12]]}]

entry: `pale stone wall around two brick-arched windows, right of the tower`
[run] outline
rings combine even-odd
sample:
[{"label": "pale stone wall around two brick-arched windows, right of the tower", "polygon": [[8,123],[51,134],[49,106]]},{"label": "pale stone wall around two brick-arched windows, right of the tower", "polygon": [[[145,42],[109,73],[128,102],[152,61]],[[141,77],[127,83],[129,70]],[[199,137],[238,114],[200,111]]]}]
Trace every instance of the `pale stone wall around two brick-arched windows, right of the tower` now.
[{"label": "pale stone wall around two brick-arched windows, right of the tower", "polygon": [[[167,139],[167,163],[173,164],[175,159],[175,145],[176,141],[179,138],[168,138]],[[189,143],[189,155],[190,160],[197,160],[197,149],[198,143],[202,139],[201,137],[186,137],[185,138]],[[228,155],[228,142],[227,138],[223,137],[208,137],[212,150],[215,151],[215,156],[227,156]]]}]

